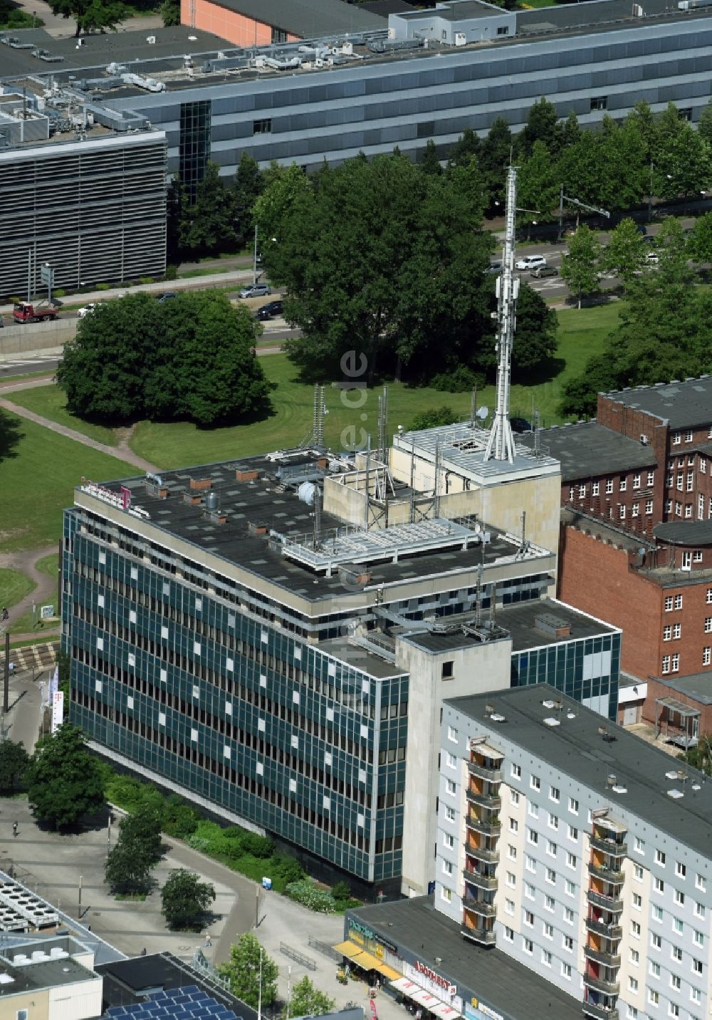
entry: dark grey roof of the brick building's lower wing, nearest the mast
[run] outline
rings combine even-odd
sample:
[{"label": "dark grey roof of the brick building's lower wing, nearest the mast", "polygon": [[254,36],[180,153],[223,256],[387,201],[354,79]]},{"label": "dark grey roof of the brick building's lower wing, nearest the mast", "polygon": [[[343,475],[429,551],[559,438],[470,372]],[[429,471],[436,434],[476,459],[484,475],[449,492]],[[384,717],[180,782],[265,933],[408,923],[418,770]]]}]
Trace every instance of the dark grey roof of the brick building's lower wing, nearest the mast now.
[{"label": "dark grey roof of the brick building's lower wing, nearest the mast", "polygon": [[[519,436],[518,441],[533,448],[532,432]],[[652,447],[643,446],[598,421],[543,428],[540,443],[542,450],[560,461],[562,481],[595,478],[657,464]]]}]

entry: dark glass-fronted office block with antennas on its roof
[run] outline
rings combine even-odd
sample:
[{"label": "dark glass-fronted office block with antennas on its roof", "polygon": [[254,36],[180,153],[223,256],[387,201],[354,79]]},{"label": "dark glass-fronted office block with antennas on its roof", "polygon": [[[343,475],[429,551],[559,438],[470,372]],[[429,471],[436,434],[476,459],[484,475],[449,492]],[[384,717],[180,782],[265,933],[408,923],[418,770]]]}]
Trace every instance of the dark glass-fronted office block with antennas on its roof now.
[{"label": "dark glass-fronted office block with antennas on its roof", "polygon": [[523,447],[486,463],[486,439],[460,425],[396,437],[388,462],[300,449],[79,487],[71,718],[326,871],[424,892],[445,697],[548,679],[617,708],[619,631],[550,598],[558,465]]}]

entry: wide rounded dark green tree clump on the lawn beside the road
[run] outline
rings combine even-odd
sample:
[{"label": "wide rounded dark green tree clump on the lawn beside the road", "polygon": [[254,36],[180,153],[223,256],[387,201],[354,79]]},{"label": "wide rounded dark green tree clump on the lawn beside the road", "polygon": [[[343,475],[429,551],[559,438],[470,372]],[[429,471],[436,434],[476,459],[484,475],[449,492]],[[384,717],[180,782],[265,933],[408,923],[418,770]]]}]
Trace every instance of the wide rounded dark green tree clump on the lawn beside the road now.
[{"label": "wide rounded dark green tree clump on the lawn beside the road", "polygon": [[165,303],[129,295],[80,319],[57,381],[81,417],[254,420],[268,412],[270,392],[255,338],[250,312],[216,291]]}]

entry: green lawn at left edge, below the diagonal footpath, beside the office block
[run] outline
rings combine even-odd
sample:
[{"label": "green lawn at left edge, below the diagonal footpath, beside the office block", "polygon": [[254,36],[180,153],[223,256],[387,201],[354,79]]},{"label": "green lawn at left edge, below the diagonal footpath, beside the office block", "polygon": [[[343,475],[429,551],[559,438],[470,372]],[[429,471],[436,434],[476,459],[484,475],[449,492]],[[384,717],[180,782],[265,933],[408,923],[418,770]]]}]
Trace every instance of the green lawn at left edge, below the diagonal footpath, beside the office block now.
[{"label": "green lawn at left edge, below the diagonal footpath, beside the office block", "polygon": [[99,481],[136,474],[125,461],[34,421],[8,412],[3,417],[16,425],[20,439],[11,451],[14,456],[0,459],[0,551],[37,549],[56,542],[62,533],[62,509],[71,506],[72,490],[83,475]]}]

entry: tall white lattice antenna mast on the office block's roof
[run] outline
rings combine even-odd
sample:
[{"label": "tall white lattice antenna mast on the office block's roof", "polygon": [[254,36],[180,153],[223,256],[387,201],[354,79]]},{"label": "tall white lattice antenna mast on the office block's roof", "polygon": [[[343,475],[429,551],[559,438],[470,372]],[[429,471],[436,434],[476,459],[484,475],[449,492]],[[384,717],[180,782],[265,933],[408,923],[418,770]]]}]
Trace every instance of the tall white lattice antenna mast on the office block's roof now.
[{"label": "tall white lattice antenna mast on the office block's roof", "polygon": [[497,407],[490,429],[485,460],[514,461],[514,437],[509,421],[512,379],[512,343],[516,328],[519,279],[514,275],[514,242],[517,207],[517,170],[507,171],[507,216],[502,253],[502,275],[497,277]]}]

